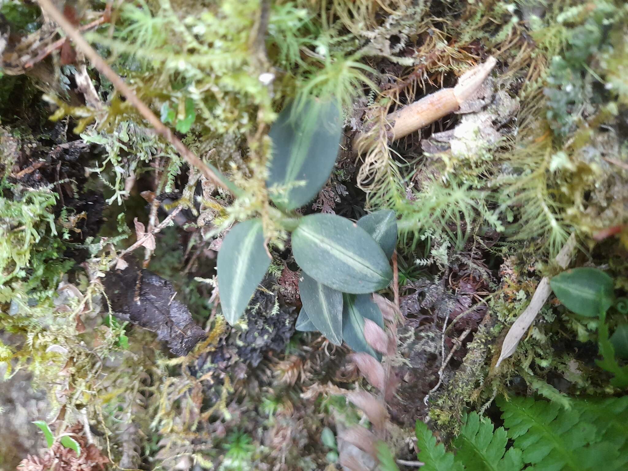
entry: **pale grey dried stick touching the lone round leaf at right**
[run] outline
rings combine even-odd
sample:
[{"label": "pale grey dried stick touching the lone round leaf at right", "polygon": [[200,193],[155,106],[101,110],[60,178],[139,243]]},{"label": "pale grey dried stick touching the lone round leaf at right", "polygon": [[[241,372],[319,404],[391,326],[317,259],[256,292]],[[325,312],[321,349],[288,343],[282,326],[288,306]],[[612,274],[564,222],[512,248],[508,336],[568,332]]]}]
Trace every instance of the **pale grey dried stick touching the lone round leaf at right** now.
[{"label": "pale grey dried stick touching the lone round leaf at right", "polygon": [[[556,263],[558,263],[561,268],[565,269],[569,265],[571,261],[571,252],[573,252],[575,246],[576,236],[575,234],[571,234],[569,239],[565,242],[563,248],[556,256]],[[534,319],[536,319],[539,311],[548,300],[550,293],[551,287],[549,286],[549,278],[544,276],[543,279],[541,279],[539,286],[536,287],[536,291],[534,291],[534,295],[532,296],[532,300],[530,301],[528,307],[519,317],[517,317],[517,320],[514,324],[512,324],[512,327],[506,334],[506,338],[504,338],[504,343],[502,344],[501,354],[499,354],[499,359],[497,360],[497,364],[495,364],[495,369],[499,367],[502,361],[514,354],[517,349],[517,345],[519,345],[519,341],[523,337],[524,333],[528,332],[528,329],[534,322]]]}]

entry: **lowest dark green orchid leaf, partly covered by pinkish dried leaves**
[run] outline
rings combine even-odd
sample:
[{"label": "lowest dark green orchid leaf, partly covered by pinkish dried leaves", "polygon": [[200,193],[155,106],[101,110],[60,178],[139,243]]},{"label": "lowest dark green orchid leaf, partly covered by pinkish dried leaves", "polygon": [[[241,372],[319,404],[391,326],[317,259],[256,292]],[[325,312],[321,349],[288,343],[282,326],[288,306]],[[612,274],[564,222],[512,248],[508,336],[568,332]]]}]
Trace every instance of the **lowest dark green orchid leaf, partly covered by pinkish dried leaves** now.
[{"label": "lowest dark green orchid leaf, partly covered by pinkish dried leaves", "polygon": [[366,352],[381,360],[382,355],[376,352],[364,338],[364,319],[371,319],[379,327],[384,328],[384,317],[371,300],[371,295],[342,295],[342,338],[354,352]]}]

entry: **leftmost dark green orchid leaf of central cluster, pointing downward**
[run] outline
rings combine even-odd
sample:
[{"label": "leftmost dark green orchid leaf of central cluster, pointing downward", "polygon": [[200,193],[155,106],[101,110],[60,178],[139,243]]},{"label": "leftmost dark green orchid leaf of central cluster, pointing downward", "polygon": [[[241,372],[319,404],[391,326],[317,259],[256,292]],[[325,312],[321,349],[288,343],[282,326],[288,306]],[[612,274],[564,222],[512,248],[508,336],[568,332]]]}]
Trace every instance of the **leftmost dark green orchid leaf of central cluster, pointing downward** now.
[{"label": "leftmost dark green orchid leaf of central cluster, pointing downward", "polygon": [[271,264],[265,246],[259,219],[234,225],[222,241],[217,261],[220,306],[231,325],[244,314]]}]

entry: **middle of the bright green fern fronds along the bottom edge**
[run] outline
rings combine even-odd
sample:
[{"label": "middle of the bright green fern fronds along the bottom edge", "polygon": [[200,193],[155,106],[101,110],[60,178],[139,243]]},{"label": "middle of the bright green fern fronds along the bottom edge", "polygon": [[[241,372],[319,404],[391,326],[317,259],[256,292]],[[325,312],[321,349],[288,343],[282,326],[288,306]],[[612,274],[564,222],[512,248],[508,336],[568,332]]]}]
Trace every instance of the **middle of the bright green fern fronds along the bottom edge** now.
[{"label": "middle of the bright green fern fronds along the bottom edge", "polygon": [[472,412],[453,441],[457,449],[455,460],[464,463],[468,470],[518,471],[523,467],[521,450],[506,451],[507,441],[503,427],[494,430],[489,420]]}]

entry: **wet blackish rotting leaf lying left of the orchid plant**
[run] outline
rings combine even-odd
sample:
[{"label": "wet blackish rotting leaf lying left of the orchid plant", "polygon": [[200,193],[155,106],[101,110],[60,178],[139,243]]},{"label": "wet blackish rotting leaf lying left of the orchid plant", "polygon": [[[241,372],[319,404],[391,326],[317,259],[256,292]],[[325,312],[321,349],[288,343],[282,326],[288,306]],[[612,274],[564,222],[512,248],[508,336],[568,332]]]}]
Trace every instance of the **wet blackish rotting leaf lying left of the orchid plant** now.
[{"label": "wet blackish rotting leaf lying left of the orchid plant", "polygon": [[[187,355],[205,331],[193,320],[190,310],[176,299],[172,283],[146,269],[135,257],[127,256],[124,270],[112,269],[102,284],[111,310],[119,320],[148,328],[168,344],[175,355]],[[136,290],[139,279],[139,290]],[[139,291],[139,300],[135,300]]]}]

